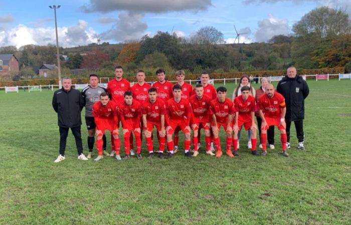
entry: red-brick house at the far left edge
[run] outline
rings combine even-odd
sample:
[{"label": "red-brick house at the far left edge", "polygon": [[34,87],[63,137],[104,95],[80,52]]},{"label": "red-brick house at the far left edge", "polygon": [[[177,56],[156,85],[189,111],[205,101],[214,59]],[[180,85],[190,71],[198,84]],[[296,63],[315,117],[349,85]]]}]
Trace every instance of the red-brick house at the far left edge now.
[{"label": "red-brick house at the far left edge", "polygon": [[11,79],[20,71],[18,59],[14,54],[0,54],[0,78]]}]

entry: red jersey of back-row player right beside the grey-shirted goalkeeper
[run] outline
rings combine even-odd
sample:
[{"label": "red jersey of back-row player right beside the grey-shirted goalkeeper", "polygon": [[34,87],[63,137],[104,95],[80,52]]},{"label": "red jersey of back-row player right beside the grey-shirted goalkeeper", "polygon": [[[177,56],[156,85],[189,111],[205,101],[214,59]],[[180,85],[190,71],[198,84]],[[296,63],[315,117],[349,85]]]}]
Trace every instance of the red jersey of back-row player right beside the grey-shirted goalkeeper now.
[{"label": "red jersey of back-row player right beside the grey-shirted goalkeeper", "polygon": [[112,96],[112,100],[118,105],[124,101],[124,92],[130,90],[130,83],[128,80],[122,78],[120,81],[111,79],[107,83],[107,91]]}]

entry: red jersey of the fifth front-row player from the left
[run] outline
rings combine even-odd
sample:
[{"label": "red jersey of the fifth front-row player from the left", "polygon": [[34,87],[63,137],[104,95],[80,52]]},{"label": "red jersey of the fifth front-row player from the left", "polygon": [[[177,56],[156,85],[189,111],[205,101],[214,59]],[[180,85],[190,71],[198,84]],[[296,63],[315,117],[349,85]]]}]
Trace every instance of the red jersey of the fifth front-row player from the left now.
[{"label": "red jersey of the fifth front-row player from the left", "polygon": [[196,94],[190,97],[190,104],[192,106],[192,122],[210,122],[210,104],[211,98],[204,94],[199,100]]}]

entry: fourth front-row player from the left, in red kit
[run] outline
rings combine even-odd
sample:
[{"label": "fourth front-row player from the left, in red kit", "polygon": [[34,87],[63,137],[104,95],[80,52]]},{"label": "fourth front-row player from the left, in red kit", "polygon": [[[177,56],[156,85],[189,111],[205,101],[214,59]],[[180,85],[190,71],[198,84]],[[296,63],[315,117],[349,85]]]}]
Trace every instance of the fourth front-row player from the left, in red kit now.
[{"label": "fourth front-row player from the left, in red kit", "polygon": [[166,120],[166,134],[167,134],[167,146],[169,150],[168,158],[172,157],[173,151],[173,140],[172,134],[177,127],[180,127],[185,134],[184,149],[185,156],[192,157],[189,152],[190,147],[190,116],[191,116],[191,105],[188,99],[182,98],[182,86],[175,84],[173,87],[173,98],[170,98],[166,102],[167,115]]}]

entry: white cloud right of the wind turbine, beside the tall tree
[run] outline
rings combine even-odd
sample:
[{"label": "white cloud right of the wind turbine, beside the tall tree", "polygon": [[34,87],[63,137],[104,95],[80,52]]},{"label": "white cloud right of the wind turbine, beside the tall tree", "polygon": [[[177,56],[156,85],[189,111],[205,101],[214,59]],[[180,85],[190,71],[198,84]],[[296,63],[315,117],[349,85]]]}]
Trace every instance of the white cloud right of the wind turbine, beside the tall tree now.
[{"label": "white cloud right of the wind turbine, beside the tall tree", "polygon": [[289,34],[289,24],[287,19],[280,19],[271,14],[268,18],[258,21],[258,29],[255,32],[255,41],[268,41],[271,37],[278,34]]}]

